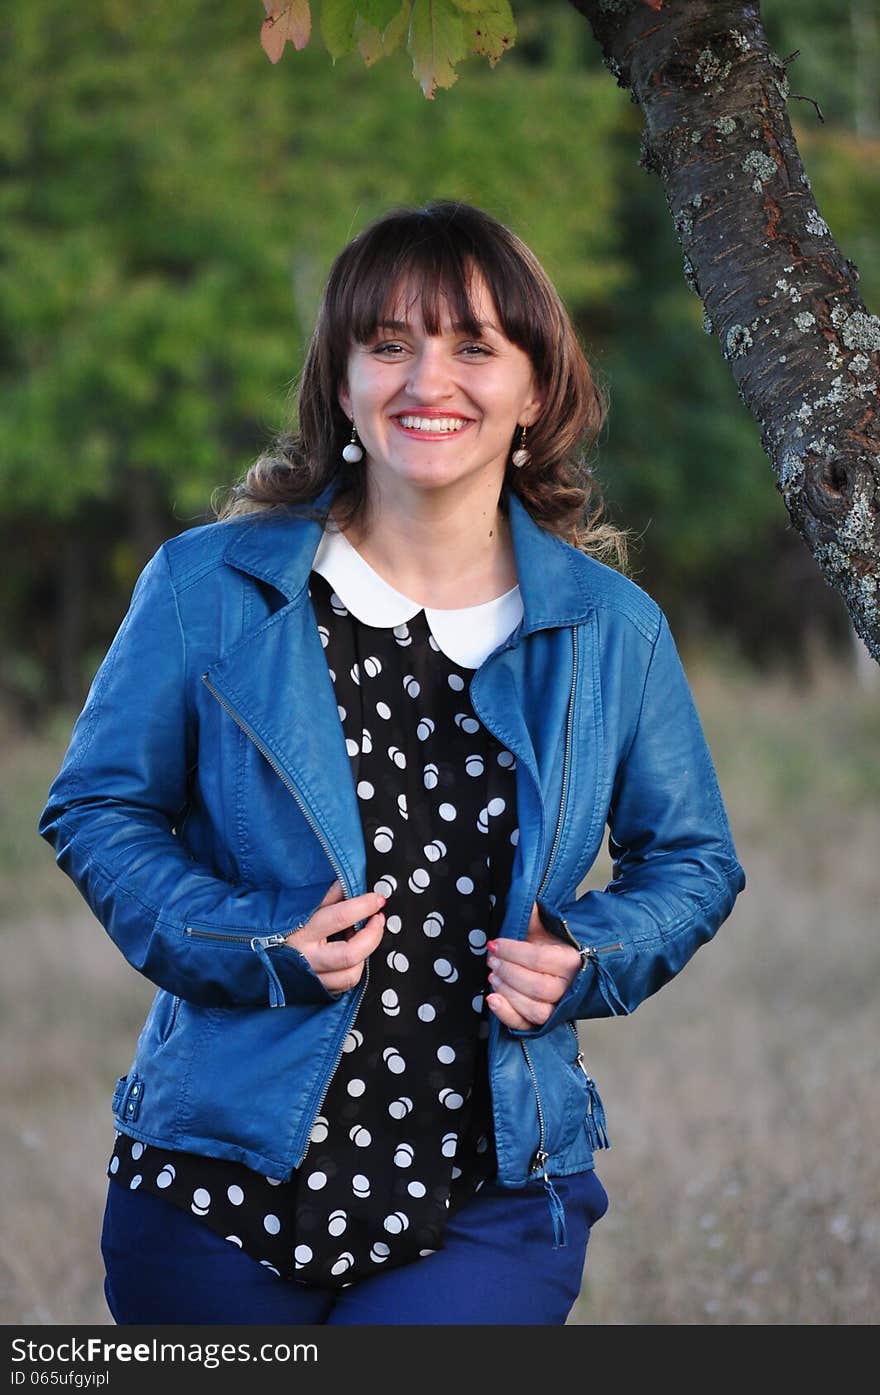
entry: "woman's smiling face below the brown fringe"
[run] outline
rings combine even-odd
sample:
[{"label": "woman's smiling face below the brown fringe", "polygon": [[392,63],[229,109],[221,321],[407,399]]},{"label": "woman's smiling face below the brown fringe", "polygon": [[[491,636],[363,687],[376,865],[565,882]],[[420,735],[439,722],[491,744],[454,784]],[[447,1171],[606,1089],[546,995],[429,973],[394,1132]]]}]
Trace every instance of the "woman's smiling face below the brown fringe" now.
[{"label": "woman's smiling face below the brown fringe", "polygon": [[449,314],[428,335],[417,290],[403,287],[374,338],[351,347],[339,402],[385,498],[400,485],[437,490],[477,478],[501,490],[517,425],[538,416],[531,361],[505,336],[478,273],[470,301],[477,338]]}]

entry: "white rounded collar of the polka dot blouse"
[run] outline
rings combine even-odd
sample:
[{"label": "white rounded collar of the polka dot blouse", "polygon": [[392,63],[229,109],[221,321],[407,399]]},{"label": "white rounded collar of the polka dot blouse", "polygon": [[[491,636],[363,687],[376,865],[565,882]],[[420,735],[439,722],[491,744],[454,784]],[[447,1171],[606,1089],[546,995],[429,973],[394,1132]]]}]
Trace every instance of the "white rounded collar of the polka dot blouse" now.
[{"label": "white rounded collar of the polka dot blouse", "polygon": [[344,533],[335,527],[324,530],[312,571],[326,578],[346,610],[364,625],[389,629],[424,611],[438,647],[463,668],[478,668],[523,615],[519,586],[481,605],[456,610],[420,605],[379,576]]}]

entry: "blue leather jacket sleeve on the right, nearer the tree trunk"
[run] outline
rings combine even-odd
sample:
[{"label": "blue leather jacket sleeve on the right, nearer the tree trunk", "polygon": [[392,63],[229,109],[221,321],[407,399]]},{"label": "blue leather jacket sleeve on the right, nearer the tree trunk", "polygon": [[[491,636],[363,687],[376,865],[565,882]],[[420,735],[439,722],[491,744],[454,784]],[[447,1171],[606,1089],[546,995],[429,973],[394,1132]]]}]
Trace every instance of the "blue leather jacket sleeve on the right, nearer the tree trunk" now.
[{"label": "blue leather jacket sleeve on the right, nearer the tree trunk", "polygon": [[575,939],[582,967],[543,1035],[563,1020],[632,1013],[713,937],[745,886],[711,755],[669,626],[661,618],[629,749],[608,810],[614,877],[563,907],[548,929]]}]

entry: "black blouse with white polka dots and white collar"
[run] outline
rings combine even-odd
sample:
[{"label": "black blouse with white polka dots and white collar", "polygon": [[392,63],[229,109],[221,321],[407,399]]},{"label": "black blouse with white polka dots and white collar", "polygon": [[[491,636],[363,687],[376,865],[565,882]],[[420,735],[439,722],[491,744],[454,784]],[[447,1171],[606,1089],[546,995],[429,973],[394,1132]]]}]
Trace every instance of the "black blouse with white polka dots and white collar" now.
[{"label": "black blouse with white polka dots and white collar", "polygon": [[124,1134],[109,1173],[285,1278],[340,1288],[439,1249],[449,1215],[496,1170],[485,944],[501,926],[517,840],[515,757],[481,725],[467,689],[522,605],[515,589],[487,605],[425,611],[326,533],[310,597],[367,886],[388,897],[360,1007],[289,1183]]}]

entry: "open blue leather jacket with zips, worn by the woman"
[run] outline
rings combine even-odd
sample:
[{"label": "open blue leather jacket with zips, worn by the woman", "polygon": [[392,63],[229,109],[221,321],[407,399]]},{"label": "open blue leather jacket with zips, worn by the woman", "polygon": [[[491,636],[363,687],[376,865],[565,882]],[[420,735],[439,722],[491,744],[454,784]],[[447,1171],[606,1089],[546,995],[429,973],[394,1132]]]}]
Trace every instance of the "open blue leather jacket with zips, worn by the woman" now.
[{"label": "open blue leather jacket with zips, worn by the woman", "polygon": [[[470,685],[516,756],[502,933],[523,937],[537,901],[582,954],[540,1030],[491,1020],[496,1180],[522,1187],[590,1168],[607,1143],[576,1020],[633,1011],[714,935],[745,877],[661,611],[512,492],[508,506],[524,614]],[[282,509],[159,550],[40,819],[60,866],[159,988],[116,1089],[117,1127],[278,1179],[303,1161],[365,982],[329,993],[283,943],[333,879],[349,897],[368,890],[307,594],[321,531]],[[605,824],[614,879],[577,897]]]}]

